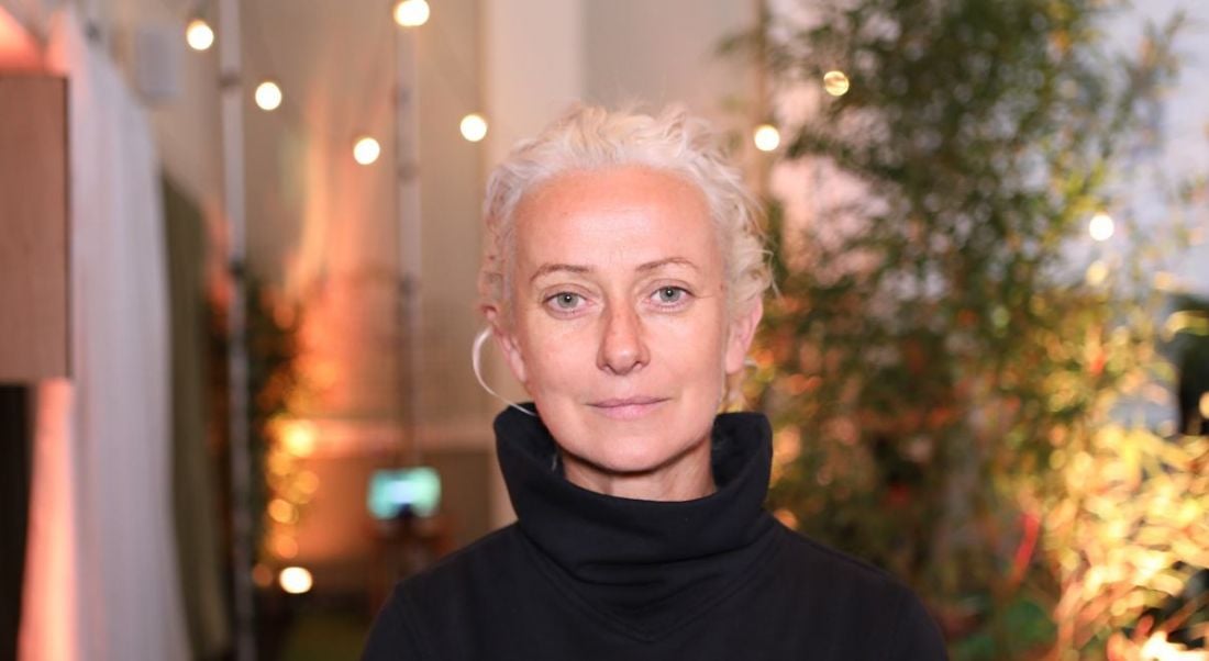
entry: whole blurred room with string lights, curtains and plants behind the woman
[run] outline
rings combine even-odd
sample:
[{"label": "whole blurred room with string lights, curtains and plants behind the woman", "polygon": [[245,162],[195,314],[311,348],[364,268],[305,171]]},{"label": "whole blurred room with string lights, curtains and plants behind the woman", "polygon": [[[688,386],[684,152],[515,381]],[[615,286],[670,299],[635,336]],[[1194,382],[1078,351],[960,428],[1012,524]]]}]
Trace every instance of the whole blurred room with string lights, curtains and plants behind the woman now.
[{"label": "whole blurred room with string lights, curtains and plants behind the woman", "polygon": [[508,524],[481,193],[577,99],[768,205],[779,518],[954,659],[1209,659],[1193,0],[0,0],[0,659],[355,659]]}]

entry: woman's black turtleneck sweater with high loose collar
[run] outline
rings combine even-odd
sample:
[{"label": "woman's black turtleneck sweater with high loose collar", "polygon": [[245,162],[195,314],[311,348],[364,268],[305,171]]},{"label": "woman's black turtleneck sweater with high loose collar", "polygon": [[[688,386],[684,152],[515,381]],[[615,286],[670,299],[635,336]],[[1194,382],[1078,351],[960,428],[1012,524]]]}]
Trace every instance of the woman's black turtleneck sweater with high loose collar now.
[{"label": "woman's black turtleneck sweater with high loose collar", "polygon": [[568,482],[538,418],[505,410],[496,437],[517,522],[400,582],[364,660],[945,657],[909,590],[764,511],[763,416],[718,416],[717,491],[681,503]]}]

